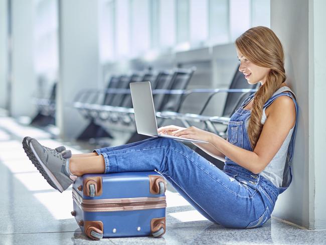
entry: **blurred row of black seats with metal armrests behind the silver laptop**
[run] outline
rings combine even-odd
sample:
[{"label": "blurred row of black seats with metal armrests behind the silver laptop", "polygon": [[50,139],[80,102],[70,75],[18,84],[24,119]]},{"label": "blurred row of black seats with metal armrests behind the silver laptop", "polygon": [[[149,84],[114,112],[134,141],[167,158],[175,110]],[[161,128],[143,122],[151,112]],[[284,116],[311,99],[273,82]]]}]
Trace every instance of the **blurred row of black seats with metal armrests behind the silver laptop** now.
[{"label": "blurred row of black seats with metal armrests behind the silver laptop", "polygon": [[135,72],[130,76],[112,76],[106,89],[80,91],[74,100],[74,107],[85,118],[90,119],[90,124],[78,139],[111,137],[109,132],[105,132],[103,127],[96,123],[98,120],[114,124],[121,123],[122,125],[130,125],[133,122],[129,90],[129,83],[131,82],[150,81],[153,91],[156,91],[153,95],[155,110],[175,111],[181,102],[182,94],[172,94],[167,91],[186,89],[195,70],[195,67],[159,72],[146,70]]}]

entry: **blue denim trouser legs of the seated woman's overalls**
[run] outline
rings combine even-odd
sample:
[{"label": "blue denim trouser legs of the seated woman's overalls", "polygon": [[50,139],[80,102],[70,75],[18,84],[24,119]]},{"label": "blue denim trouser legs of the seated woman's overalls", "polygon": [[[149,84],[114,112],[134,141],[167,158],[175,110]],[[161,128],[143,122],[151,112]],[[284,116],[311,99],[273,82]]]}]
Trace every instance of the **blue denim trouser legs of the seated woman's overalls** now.
[{"label": "blue denim trouser legs of the seated woman's overalls", "polygon": [[268,180],[261,177],[253,189],[241,181],[247,170],[222,171],[172,139],[151,138],[94,151],[104,157],[105,173],[156,170],[203,216],[225,227],[263,225],[277,199]]}]

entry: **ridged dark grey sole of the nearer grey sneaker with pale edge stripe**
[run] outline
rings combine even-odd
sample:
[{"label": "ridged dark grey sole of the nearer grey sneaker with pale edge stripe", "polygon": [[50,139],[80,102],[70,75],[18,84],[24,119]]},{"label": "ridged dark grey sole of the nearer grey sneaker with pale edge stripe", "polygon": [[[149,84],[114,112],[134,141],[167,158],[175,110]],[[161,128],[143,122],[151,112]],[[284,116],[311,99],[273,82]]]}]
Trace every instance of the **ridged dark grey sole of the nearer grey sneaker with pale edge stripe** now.
[{"label": "ridged dark grey sole of the nearer grey sneaker with pale edge stripe", "polygon": [[27,137],[24,138],[23,140],[23,149],[28,156],[28,158],[32,161],[34,166],[39,170],[39,172],[42,174],[42,176],[45,178],[45,180],[53,187],[56,186],[57,190],[60,192],[63,192],[64,189],[54,177],[54,175],[51,173],[51,171],[45,166],[45,164],[41,161],[39,156],[36,154],[33,146],[28,145],[28,141],[26,139]]}]

